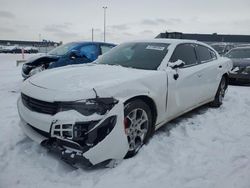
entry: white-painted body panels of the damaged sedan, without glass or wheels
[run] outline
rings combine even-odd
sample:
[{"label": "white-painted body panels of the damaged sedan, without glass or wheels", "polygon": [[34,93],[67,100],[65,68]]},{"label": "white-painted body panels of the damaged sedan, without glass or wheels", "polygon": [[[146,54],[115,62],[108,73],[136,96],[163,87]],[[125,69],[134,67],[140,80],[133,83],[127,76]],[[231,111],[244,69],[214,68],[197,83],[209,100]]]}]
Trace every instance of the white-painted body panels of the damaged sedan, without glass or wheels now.
[{"label": "white-painted body panels of the damaged sedan, without glass or wheels", "polygon": [[[100,144],[84,155],[97,164],[105,159],[123,158],[128,151],[128,143],[123,127],[123,103],[138,96],[151,98],[156,106],[156,128],[169,120],[214,99],[223,74],[231,69],[231,62],[221,58],[193,67],[178,69],[179,78],[175,80],[175,70],[168,67],[169,59],[178,44],[195,41],[149,40],[142,42],[169,43],[168,53],[158,70],[139,70],[110,65],[77,65],[43,71],[26,80],[22,93],[32,98],[54,102],[75,101],[99,97],[114,97],[119,101],[108,116],[117,115],[114,130]],[[209,47],[210,48],[210,47]],[[221,68],[218,68],[222,66]],[[54,117],[32,112],[18,101],[21,119],[32,126],[49,132]],[[83,117],[84,119],[84,117]],[[67,121],[67,120],[65,120]],[[22,126],[24,132],[36,141],[39,137]]]}]

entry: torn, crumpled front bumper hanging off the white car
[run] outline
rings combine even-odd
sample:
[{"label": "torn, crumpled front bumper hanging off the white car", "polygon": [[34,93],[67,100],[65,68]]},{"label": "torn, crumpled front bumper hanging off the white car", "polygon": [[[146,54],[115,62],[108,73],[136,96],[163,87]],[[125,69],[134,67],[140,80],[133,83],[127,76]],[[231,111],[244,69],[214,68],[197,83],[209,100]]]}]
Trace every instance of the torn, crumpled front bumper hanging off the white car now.
[{"label": "torn, crumpled front bumper hanging off the white car", "polygon": [[[122,102],[116,104],[102,119],[98,120],[98,123],[87,134],[87,136],[92,134],[87,138],[87,142],[92,139],[92,143],[85,143],[84,145],[62,137],[63,131],[66,130],[62,129],[63,125],[64,123],[68,126],[72,125],[70,129],[73,131],[75,124],[79,122],[84,124],[84,121],[90,122],[95,119],[87,118],[77,112],[72,113],[72,111],[65,111],[62,115],[56,114],[54,116],[40,114],[27,109],[20,99],[18,100],[18,112],[21,119],[20,127],[24,133],[37,143],[58,153],[68,163],[84,163],[89,166],[109,160],[121,160],[129,149],[123,125],[124,106]],[[114,119],[114,117],[114,126],[112,129],[106,129],[105,126],[110,126],[107,120]],[[56,126],[59,129],[55,129]],[[104,127],[104,129],[101,129],[101,127]],[[52,134],[53,129],[54,133],[55,130],[59,130],[60,133]],[[98,131],[94,132],[95,130]],[[97,138],[101,137],[101,139],[93,141],[93,135]]]}]

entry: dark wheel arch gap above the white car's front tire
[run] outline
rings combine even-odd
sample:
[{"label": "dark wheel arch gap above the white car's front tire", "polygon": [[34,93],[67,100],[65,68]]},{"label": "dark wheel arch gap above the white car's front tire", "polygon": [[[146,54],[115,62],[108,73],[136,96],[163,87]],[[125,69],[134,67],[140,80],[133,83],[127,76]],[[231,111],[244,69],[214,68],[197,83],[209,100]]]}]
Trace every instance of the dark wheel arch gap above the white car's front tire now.
[{"label": "dark wheel arch gap above the white car's front tire", "polygon": [[124,102],[124,104],[127,104],[131,101],[134,101],[134,100],[142,100],[143,102],[145,102],[149,106],[151,113],[152,113],[153,126],[155,126],[156,120],[157,120],[157,108],[156,108],[156,104],[155,104],[154,100],[152,98],[150,98],[149,96],[139,95],[139,96],[135,96],[135,97],[132,97],[130,99],[127,99]]}]

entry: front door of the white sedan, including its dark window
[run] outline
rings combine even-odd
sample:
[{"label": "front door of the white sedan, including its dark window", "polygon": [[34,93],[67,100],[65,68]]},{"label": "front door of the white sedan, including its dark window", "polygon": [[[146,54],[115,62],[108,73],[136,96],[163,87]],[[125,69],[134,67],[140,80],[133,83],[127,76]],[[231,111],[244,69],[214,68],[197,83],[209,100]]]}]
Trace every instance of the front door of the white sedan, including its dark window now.
[{"label": "front door of the white sedan, including its dark window", "polygon": [[[178,70],[168,69],[167,119],[172,119],[202,102],[202,67],[198,61],[195,45],[192,43],[178,45],[170,62],[177,60],[182,60],[185,66]],[[175,74],[178,74],[177,79],[174,78]]]}]

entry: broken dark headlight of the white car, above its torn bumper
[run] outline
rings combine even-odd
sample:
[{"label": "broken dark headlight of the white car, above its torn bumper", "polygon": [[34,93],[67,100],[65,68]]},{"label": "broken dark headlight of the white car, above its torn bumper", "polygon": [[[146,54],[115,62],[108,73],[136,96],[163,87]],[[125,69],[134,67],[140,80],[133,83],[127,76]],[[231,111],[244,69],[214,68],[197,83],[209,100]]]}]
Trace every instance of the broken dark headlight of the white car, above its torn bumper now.
[{"label": "broken dark headlight of the white car, above its torn bumper", "polygon": [[75,101],[75,102],[63,102],[59,103],[58,112],[76,110],[79,113],[90,116],[94,113],[99,115],[106,114],[109,110],[113,108],[118,101],[112,97],[110,98],[95,98],[88,99],[84,101]]}]

